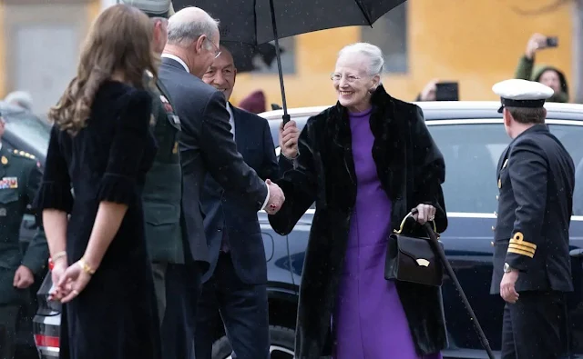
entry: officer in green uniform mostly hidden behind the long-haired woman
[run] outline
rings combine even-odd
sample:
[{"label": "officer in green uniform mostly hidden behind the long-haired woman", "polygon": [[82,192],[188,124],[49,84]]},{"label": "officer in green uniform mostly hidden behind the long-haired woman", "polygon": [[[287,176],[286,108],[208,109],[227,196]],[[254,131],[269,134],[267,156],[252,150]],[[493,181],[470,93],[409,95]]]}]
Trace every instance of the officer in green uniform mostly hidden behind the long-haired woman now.
[{"label": "officer in green uniform mostly hidden behind the long-haired woman", "polygon": [[[151,18],[153,48],[162,54],[168,37],[170,0],[122,0],[139,8]],[[179,117],[174,113],[168,91],[161,81],[148,74],[146,82],[152,96],[152,131],[158,145],[154,164],[146,175],[143,191],[146,241],[152,261],[158,299],[160,324],[166,312],[166,274],[169,264],[183,264],[180,200],[182,171],[179,163]]]}]

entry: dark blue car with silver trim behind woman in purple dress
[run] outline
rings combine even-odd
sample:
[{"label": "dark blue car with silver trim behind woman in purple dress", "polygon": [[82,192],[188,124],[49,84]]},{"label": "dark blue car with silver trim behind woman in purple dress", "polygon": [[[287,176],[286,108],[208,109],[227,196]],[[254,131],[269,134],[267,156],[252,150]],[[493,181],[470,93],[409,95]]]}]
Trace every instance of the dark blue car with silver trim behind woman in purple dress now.
[{"label": "dark blue car with silver trim behind woman in purple dress", "polygon": [[[445,253],[465,289],[470,303],[495,351],[501,344],[503,301],[489,294],[492,275],[493,232],[496,223],[496,164],[510,142],[496,102],[419,103],[426,124],[445,156],[445,207],[449,226],[441,234]],[[583,358],[583,306],[580,275],[583,266],[583,105],[547,104],[547,124],[563,142],[577,166],[575,208],[571,221],[572,266],[576,292],[570,295],[573,358]],[[324,107],[291,109],[299,127]],[[281,110],[261,114],[270,121],[273,141],[278,145]],[[278,149],[279,150],[279,149]],[[315,208],[312,205],[287,236],[276,234],[267,214],[258,214],[268,263],[271,358],[292,358],[299,284],[308,234]],[[46,297],[50,278],[39,291]],[[450,278],[443,285],[445,319],[450,347],[445,358],[487,358]],[[36,334],[44,334],[57,344],[58,307],[40,304],[35,317]],[[230,345],[222,330],[216,333],[213,359],[230,358]],[[47,348],[45,347],[45,353]],[[51,353],[57,349],[51,348]]]}]

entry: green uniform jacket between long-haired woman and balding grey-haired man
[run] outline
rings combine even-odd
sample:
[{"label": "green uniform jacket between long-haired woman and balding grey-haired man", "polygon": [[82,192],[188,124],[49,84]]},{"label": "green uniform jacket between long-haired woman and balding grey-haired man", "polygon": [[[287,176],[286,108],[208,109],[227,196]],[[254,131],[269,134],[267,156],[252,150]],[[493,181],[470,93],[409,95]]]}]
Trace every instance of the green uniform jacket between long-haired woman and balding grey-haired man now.
[{"label": "green uniform jacket between long-haired woman and balding grey-haired man", "polygon": [[[151,80],[151,78],[150,78]],[[146,175],[142,194],[146,242],[152,262],[184,263],[181,198],[182,170],[178,136],[179,117],[170,105],[168,91],[160,81],[149,85],[152,95],[152,132],[158,152]]]}]

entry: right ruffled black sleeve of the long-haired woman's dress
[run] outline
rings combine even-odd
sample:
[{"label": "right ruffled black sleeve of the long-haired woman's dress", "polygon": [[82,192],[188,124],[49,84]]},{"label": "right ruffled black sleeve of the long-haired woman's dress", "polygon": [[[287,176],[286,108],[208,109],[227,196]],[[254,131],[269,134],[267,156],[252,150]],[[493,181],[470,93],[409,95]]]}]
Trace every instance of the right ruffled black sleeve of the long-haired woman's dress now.
[{"label": "right ruffled black sleeve of the long-haired woman's dress", "polygon": [[106,172],[101,179],[97,200],[130,204],[136,196],[136,180],[148,139],[151,100],[148,92],[128,95],[109,149]]}]

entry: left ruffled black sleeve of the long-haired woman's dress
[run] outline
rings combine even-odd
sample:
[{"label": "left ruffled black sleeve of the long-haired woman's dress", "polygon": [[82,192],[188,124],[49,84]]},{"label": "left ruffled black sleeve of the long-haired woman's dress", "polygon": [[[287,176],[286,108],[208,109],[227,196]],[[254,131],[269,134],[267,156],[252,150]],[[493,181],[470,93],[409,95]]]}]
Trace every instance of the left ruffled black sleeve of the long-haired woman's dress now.
[{"label": "left ruffled black sleeve of the long-haired woman's dress", "polygon": [[37,212],[56,209],[71,213],[73,208],[71,179],[66,159],[61,153],[59,135],[60,130],[54,125],[46,153],[45,173],[32,205]]}]

